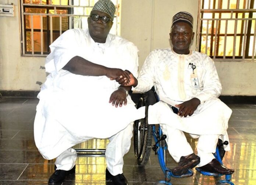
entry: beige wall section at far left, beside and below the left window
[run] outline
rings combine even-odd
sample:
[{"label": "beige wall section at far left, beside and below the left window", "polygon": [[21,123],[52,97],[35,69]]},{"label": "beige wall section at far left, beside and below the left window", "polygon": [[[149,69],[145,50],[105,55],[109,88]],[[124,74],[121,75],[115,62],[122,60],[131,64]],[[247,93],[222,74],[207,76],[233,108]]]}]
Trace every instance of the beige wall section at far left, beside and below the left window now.
[{"label": "beige wall section at far left, beside and below the left window", "polygon": [[39,90],[45,57],[21,56],[18,0],[0,0],[5,3],[14,3],[15,17],[0,17],[0,90]]}]

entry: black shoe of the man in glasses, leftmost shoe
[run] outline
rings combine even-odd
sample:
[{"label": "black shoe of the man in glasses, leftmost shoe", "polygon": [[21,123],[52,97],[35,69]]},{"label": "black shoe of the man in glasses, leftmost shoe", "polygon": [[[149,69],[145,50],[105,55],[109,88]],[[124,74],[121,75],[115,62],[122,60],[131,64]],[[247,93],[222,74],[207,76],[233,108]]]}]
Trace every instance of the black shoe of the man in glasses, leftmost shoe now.
[{"label": "black shoe of the man in glasses, leftmost shoe", "polygon": [[[56,169],[56,168],[55,168]],[[65,181],[65,178],[69,175],[69,174],[73,174],[75,173],[75,166],[68,171],[65,170],[56,170],[51,177],[49,178],[48,184],[49,185],[56,185],[59,184],[63,181]]]}]

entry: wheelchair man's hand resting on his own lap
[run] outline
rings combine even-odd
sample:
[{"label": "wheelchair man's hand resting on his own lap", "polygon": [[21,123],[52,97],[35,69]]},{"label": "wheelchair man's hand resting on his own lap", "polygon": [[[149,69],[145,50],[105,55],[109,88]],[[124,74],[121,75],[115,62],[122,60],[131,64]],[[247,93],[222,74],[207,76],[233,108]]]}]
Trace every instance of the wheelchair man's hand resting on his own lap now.
[{"label": "wheelchair man's hand resting on his own lap", "polygon": [[200,105],[200,100],[198,98],[192,98],[186,102],[175,105],[175,107],[179,108],[178,115],[181,117],[187,117],[194,114],[196,108]]}]

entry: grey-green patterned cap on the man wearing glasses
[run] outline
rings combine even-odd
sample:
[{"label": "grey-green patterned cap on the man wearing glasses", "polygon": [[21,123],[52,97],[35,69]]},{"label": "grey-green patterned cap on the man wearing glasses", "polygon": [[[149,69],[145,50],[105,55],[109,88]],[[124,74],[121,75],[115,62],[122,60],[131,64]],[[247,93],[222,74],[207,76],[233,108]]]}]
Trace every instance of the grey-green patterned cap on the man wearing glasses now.
[{"label": "grey-green patterned cap on the man wearing glasses", "polygon": [[103,13],[106,13],[106,14],[110,15],[110,17],[112,18],[112,21],[114,19],[115,5],[112,3],[111,0],[99,0],[99,1],[97,1],[97,3],[95,3],[95,5],[92,8],[92,11],[93,10],[98,10],[98,11],[101,11]]}]

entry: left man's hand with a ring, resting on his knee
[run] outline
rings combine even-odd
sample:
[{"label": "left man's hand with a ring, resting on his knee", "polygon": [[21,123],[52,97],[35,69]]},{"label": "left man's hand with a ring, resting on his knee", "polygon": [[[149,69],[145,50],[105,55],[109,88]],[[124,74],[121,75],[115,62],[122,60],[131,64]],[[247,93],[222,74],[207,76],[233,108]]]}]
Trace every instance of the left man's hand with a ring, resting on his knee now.
[{"label": "left man's hand with a ring, resting on his knee", "polygon": [[123,103],[126,105],[127,99],[125,91],[122,89],[115,90],[110,96],[109,103],[112,103],[112,105],[115,105],[115,107],[118,107],[118,104],[119,107],[122,107]]}]

